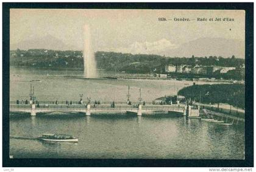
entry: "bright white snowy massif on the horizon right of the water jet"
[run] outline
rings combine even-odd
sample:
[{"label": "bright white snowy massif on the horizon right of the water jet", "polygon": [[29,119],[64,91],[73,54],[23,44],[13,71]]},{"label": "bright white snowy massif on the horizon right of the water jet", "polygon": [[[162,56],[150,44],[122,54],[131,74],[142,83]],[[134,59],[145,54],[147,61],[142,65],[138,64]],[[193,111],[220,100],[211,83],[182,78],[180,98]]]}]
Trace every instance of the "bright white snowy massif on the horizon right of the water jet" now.
[{"label": "bright white snowy massif on the horizon right of the water jet", "polygon": [[113,52],[121,52],[121,53],[143,53],[143,54],[157,54],[159,52],[163,52],[164,50],[176,49],[178,46],[176,44],[172,44],[171,41],[162,39],[154,42],[135,42],[130,44],[127,47],[117,47],[110,49],[102,49],[104,51],[113,51]]}]

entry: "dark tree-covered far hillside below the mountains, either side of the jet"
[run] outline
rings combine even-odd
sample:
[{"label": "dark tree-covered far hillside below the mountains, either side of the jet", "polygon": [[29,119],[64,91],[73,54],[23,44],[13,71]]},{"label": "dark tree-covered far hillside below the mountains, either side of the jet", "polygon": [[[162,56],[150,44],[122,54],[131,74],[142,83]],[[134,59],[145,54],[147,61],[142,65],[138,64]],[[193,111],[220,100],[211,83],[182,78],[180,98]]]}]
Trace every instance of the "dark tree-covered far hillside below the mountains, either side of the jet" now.
[{"label": "dark tree-covered far hillside below the mountains, either side of the jet", "polygon": [[[244,64],[244,59],[210,57],[165,57],[160,55],[96,52],[95,58],[98,69],[105,71],[125,71],[128,73],[162,73],[166,65],[188,64],[191,66],[223,66],[239,67]],[[10,64],[13,66],[30,67],[67,67],[84,68],[82,51],[72,50],[12,50],[10,51]]]}]

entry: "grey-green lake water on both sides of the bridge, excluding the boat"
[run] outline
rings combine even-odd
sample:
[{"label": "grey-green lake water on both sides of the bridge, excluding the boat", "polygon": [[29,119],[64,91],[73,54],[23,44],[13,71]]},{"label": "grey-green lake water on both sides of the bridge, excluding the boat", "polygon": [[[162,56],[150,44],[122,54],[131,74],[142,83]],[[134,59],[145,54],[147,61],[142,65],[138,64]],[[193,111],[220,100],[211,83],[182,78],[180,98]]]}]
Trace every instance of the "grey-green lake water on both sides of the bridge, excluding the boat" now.
[{"label": "grey-green lake water on both sides of the bridge, excluding the boat", "polygon": [[[82,80],[83,71],[10,68],[10,100],[29,100],[29,80],[38,101],[144,101],[176,94],[193,84],[176,80]],[[102,74],[103,75],[103,74]],[[52,77],[55,76],[55,77]],[[59,77],[56,77],[59,76]],[[204,84],[197,82],[196,84]],[[77,143],[41,142],[43,133],[71,134]],[[244,126],[224,126],[168,114],[10,114],[10,155],[14,158],[244,159]],[[20,137],[14,138],[14,137]],[[22,139],[23,138],[23,139]],[[25,139],[31,138],[31,139]]]}]

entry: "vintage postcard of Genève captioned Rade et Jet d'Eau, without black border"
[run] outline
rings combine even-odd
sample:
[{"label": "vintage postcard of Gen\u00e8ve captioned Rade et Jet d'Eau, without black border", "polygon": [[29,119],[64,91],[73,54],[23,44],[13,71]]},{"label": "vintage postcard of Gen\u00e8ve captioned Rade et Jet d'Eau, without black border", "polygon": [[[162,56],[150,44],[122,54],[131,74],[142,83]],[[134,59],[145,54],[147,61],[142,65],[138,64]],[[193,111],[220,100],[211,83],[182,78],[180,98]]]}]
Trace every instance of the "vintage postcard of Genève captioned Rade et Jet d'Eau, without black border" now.
[{"label": "vintage postcard of Gen\u00e8ve captioned Rade et Jet d'Eau, without black border", "polygon": [[10,9],[10,159],[245,160],[245,10]]}]

